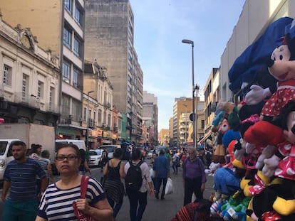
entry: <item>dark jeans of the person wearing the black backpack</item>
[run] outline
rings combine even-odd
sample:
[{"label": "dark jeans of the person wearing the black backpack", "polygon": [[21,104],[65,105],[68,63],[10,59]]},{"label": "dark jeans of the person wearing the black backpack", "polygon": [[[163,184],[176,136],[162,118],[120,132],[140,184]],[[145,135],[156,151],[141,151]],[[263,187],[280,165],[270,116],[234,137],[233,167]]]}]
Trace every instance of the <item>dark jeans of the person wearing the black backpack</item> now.
[{"label": "dark jeans of the person wearing the black backpack", "polygon": [[[129,192],[127,195],[130,202],[130,220],[140,221],[143,218],[143,212],[145,212],[145,207],[148,204],[148,191],[145,193],[141,192]],[[139,204],[139,207],[138,207]]]}]

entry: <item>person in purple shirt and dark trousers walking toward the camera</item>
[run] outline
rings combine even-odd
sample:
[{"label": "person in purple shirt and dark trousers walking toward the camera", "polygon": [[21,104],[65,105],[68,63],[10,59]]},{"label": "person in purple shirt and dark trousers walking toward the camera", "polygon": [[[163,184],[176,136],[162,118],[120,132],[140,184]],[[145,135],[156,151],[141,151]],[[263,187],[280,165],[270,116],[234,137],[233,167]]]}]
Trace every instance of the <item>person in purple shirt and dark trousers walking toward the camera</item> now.
[{"label": "person in purple shirt and dark trousers walking toward the camera", "polygon": [[195,148],[190,147],[187,151],[188,158],[182,163],[182,177],[185,182],[185,199],[183,205],[192,203],[192,193],[197,199],[203,198],[206,175],[205,167]]}]

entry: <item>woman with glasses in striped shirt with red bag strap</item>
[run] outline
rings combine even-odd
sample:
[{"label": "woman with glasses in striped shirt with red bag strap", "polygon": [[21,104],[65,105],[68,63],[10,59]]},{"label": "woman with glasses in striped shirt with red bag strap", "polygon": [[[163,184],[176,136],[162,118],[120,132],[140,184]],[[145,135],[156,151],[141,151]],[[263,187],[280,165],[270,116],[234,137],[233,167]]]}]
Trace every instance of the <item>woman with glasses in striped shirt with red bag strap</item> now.
[{"label": "woman with glasses in striped shirt with red bag strap", "polygon": [[78,220],[73,212],[74,201],[78,210],[84,214],[97,220],[113,220],[113,210],[108,204],[103,187],[95,178],[89,179],[86,199],[81,199],[82,176],[78,173],[81,158],[78,146],[60,146],[56,152],[55,163],[61,180],[49,185],[43,193],[36,221]]}]

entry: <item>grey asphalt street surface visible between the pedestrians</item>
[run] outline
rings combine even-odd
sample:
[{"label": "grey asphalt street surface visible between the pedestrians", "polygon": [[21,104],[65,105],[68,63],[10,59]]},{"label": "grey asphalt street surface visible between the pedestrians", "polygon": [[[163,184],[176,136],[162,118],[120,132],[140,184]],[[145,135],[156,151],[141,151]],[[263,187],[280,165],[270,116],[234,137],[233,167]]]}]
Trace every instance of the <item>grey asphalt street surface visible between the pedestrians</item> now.
[{"label": "grey asphalt street surface visible between the pedestrians", "polygon": [[[149,160],[148,160],[149,161]],[[147,163],[148,163],[147,161]],[[100,172],[100,168],[90,168],[91,175],[100,180],[102,176],[102,172]],[[172,171],[172,168],[171,168]],[[58,176],[55,176],[56,180],[58,180]],[[183,204],[183,183],[182,183],[182,168],[179,168],[178,174],[171,174],[171,178],[174,185],[175,192],[171,195],[165,195],[165,200],[156,200],[155,196],[148,195],[148,205],[145,209],[145,213],[142,221],[150,221],[150,220],[171,220],[171,218],[176,214],[178,210],[182,207]],[[204,193],[204,198],[209,198],[211,193],[214,191],[212,189],[213,185],[213,177],[207,176],[206,189]],[[1,186],[2,188],[2,186]],[[0,190],[1,191],[1,190]],[[1,200],[0,200],[1,201]],[[2,214],[2,202],[0,202],[0,220]],[[123,201],[123,206],[118,214],[116,221],[126,221],[130,220],[129,218],[129,200],[128,197],[125,196]]]}]

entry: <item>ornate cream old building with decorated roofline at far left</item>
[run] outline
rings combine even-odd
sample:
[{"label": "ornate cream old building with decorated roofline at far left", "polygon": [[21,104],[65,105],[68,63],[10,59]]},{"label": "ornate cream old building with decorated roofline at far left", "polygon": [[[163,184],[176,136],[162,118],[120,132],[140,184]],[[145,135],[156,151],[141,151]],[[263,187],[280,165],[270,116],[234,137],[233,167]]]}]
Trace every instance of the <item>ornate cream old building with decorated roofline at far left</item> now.
[{"label": "ornate cream old building with decorated roofline at far left", "polygon": [[12,28],[0,14],[1,123],[56,126],[58,121],[58,59],[39,47],[34,34],[28,26]]}]

